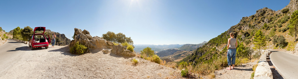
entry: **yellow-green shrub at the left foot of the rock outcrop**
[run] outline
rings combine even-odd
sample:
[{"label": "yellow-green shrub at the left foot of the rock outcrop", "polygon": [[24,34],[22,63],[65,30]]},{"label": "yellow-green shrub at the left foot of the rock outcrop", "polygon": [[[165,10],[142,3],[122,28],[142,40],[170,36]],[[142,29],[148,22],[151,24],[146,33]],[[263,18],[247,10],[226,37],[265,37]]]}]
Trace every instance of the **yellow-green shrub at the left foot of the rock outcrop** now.
[{"label": "yellow-green shrub at the left foot of the rock outcrop", "polygon": [[79,42],[76,42],[73,47],[69,49],[71,53],[76,54],[84,54],[87,50],[87,47],[85,45],[80,44]]}]

